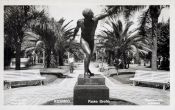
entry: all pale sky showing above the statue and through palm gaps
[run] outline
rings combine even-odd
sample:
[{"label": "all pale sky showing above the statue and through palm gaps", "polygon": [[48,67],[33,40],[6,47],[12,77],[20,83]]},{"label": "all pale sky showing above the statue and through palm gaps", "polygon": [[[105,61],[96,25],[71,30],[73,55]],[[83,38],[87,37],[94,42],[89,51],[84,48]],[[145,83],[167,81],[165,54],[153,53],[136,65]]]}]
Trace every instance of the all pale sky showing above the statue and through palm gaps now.
[{"label": "all pale sky showing above the statue and through palm gaps", "polygon": [[[73,20],[73,22],[70,24],[71,27],[76,26],[76,22],[78,19],[83,18],[82,11],[85,8],[90,8],[94,12],[94,15],[98,15],[102,13],[102,10],[104,9],[105,6],[102,5],[72,5],[72,4],[62,4],[62,5],[52,5],[52,6],[47,6],[47,11],[49,17],[54,17],[55,20],[59,20],[60,18],[64,17],[66,19],[66,22],[69,22]],[[163,9],[162,13],[160,14],[159,17],[159,22],[164,21],[166,22],[169,18],[169,10],[168,9]],[[133,17],[132,20],[134,21],[134,25],[132,26],[133,28],[137,27],[138,25],[138,20],[137,17],[139,16],[139,13],[136,13]],[[99,30],[101,29],[103,23],[99,22],[97,26],[96,33],[99,33]],[[80,34],[80,31],[79,33]]]}]

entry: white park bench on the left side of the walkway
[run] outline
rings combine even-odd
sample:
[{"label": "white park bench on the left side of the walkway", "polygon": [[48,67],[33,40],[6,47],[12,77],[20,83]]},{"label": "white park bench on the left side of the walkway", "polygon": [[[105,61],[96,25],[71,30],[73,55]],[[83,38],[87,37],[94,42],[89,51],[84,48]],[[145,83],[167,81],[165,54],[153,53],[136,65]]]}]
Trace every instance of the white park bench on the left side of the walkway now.
[{"label": "white park bench on the left side of the walkway", "polygon": [[13,82],[31,82],[31,81],[39,81],[40,85],[42,85],[45,77],[40,75],[39,70],[9,70],[4,71],[4,86],[7,88],[12,87]]}]

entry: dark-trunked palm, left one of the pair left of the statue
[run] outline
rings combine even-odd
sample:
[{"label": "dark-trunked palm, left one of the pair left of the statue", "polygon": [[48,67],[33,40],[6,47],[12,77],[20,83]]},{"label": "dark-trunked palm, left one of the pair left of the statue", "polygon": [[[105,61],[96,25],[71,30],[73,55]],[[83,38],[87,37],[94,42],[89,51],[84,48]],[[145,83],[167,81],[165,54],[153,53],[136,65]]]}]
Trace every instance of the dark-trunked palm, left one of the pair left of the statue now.
[{"label": "dark-trunked palm, left one of the pair left of the statue", "polygon": [[40,36],[40,41],[44,43],[44,50],[46,53],[46,67],[50,67],[51,53],[54,51],[54,45],[56,43],[55,25],[47,16],[43,16],[40,20],[31,24],[32,31]]}]

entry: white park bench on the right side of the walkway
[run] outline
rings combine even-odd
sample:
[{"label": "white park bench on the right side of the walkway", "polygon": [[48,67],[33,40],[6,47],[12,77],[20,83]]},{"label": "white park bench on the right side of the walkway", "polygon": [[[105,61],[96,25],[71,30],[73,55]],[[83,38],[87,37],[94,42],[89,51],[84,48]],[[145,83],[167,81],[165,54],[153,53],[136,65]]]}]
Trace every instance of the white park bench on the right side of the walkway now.
[{"label": "white park bench on the right side of the walkway", "polygon": [[166,71],[144,71],[136,70],[134,78],[130,78],[133,81],[133,86],[136,85],[136,82],[147,82],[162,84],[163,90],[166,89],[166,85],[170,82],[170,74]]}]

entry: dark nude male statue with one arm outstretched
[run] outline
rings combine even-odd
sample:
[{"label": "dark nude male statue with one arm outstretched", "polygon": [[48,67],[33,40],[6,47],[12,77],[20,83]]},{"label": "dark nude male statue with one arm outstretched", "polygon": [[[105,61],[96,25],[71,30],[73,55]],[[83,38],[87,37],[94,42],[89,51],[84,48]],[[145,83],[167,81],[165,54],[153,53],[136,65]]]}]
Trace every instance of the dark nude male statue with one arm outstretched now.
[{"label": "dark nude male statue with one arm outstretched", "polygon": [[83,52],[85,53],[84,75],[94,76],[94,73],[92,73],[89,70],[89,64],[90,64],[90,60],[91,60],[93,49],[94,49],[95,30],[97,28],[98,21],[112,14],[112,10],[109,10],[108,12],[97,15],[95,17],[91,9],[83,10],[82,14],[84,18],[79,19],[77,21],[77,26],[74,30],[73,39],[75,38],[77,32],[81,28],[80,45],[81,45]]}]

